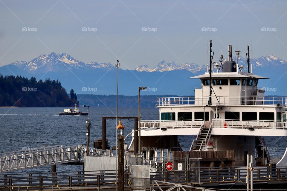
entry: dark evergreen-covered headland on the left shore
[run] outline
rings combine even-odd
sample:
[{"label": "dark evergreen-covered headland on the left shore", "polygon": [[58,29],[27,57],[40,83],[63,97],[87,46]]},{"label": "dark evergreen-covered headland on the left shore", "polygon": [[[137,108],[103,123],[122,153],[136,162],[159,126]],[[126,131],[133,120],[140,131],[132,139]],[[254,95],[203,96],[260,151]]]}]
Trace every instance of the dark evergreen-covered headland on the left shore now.
[{"label": "dark evergreen-covered headland on the left shore", "polygon": [[0,106],[71,107],[79,104],[76,94],[72,96],[68,96],[58,80],[0,75]]}]

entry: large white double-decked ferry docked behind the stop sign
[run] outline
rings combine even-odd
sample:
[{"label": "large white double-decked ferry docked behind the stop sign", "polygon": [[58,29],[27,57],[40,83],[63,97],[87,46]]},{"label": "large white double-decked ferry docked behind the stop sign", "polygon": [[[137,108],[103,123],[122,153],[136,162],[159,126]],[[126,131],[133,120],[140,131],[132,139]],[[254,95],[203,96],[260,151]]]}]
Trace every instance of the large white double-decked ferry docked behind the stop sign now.
[{"label": "large white double-decked ferry docked behind the stop sign", "polygon": [[[211,47],[210,41],[207,72],[190,77],[201,87],[195,87],[193,97],[158,98],[158,120],[140,121],[130,154],[162,162],[166,157],[200,156],[201,167],[246,166],[247,154],[253,155],[256,166],[271,163],[264,137],[287,136],[286,97],[267,97],[265,88],[257,86],[259,80],[270,78],[253,73],[249,46],[246,66],[239,66],[240,51],[235,51],[237,62],[233,61],[231,45],[226,61],[220,55],[218,64],[213,62]],[[189,151],[182,150],[179,135],[193,135]],[[287,164],[286,152],[276,165]]]}]

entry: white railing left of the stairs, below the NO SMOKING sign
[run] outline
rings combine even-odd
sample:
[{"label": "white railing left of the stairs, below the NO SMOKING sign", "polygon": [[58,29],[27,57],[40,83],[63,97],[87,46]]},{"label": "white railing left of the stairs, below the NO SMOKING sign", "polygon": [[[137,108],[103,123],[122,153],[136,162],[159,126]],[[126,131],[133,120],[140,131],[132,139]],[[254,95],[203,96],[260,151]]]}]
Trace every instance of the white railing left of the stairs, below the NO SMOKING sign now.
[{"label": "white railing left of the stairs, below the NO SMOKING sign", "polygon": [[141,129],[145,128],[160,128],[160,127],[166,127],[166,128],[200,128],[203,126],[202,120],[181,120],[181,121],[173,121],[173,120],[152,120],[152,121],[141,121]]}]

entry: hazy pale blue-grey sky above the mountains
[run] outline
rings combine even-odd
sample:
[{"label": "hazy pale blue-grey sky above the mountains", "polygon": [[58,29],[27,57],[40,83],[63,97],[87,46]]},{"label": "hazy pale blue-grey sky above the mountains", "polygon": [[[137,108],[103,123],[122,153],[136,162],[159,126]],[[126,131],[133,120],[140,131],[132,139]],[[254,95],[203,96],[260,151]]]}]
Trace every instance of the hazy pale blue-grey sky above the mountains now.
[{"label": "hazy pale blue-grey sky above the mountains", "polygon": [[[51,51],[84,62],[114,64],[120,59],[123,69],[155,67],[161,60],[203,65],[210,39],[215,60],[221,47],[226,58],[228,44],[235,55],[237,44],[245,53],[251,41],[253,57],[274,54],[287,60],[287,1],[0,0],[0,4],[0,66]],[[142,31],[144,27],[147,31]],[[207,31],[202,31],[204,27]]]}]

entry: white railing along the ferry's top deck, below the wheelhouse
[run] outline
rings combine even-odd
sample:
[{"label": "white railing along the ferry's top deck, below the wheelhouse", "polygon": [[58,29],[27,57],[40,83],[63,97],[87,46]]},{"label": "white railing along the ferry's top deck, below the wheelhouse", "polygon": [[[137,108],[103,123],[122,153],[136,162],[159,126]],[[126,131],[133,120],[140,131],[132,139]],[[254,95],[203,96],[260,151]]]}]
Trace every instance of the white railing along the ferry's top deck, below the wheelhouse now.
[{"label": "white railing along the ferry's top deck, below the wheelhouse", "polygon": [[[287,97],[212,97],[213,104],[221,105],[286,105]],[[206,105],[209,96],[158,98],[158,106]]]}]

